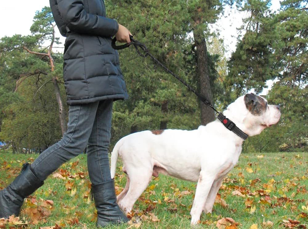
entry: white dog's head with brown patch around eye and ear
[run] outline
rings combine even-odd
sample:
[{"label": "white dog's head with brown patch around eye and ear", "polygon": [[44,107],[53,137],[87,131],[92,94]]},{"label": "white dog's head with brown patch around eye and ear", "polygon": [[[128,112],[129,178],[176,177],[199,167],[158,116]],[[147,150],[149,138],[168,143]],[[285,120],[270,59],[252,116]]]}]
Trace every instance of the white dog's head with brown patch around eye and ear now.
[{"label": "white dog's head with brown patch around eye and ear", "polygon": [[267,100],[253,93],[237,98],[224,114],[242,128],[249,136],[278,123],[281,113],[279,105],[269,105]]}]

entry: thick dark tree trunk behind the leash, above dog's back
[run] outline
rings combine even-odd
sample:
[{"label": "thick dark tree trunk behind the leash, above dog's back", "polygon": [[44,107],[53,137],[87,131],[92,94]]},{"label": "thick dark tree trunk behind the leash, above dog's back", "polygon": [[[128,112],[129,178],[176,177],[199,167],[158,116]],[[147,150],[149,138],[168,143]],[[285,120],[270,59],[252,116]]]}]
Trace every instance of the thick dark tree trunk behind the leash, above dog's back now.
[{"label": "thick dark tree trunk behind the leash, above dog's back", "polygon": [[[211,104],[213,104],[212,92],[210,86],[208,56],[206,41],[203,34],[197,34],[193,31],[193,36],[197,48],[197,73],[200,77],[200,93],[204,95]],[[215,120],[214,111],[206,104],[201,102],[201,125],[206,125]]]}]

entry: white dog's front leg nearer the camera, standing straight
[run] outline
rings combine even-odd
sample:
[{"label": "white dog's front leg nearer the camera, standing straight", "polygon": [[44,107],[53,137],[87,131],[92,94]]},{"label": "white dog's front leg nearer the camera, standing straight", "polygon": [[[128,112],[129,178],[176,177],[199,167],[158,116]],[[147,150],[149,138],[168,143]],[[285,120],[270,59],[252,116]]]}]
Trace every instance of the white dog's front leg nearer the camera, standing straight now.
[{"label": "white dog's front leg nearer the camera, standing straight", "polygon": [[191,225],[198,223],[213,181],[214,176],[211,176],[207,172],[201,170],[197,183],[195,199],[193,201],[193,207],[190,211],[190,215],[192,216]]}]

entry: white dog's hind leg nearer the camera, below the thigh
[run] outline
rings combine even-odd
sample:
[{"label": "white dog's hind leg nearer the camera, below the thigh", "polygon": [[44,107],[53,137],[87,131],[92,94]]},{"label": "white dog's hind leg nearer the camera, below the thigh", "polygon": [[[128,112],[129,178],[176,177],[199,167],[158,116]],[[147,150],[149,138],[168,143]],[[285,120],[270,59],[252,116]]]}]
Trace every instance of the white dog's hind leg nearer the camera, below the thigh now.
[{"label": "white dog's hind leg nearer the camera, below the thigh", "polygon": [[[130,172],[132,172],[134,176],[132,176]],[[135,171],[128,171],[128,176],[130,177],[128,192],[124,198],[118,202],[125,214],[132,211],[134,203],[148,187],[148,184],[152,180],[152,172],[153,171],[150,170],[141,170],[140,168],[135,169]]]}]

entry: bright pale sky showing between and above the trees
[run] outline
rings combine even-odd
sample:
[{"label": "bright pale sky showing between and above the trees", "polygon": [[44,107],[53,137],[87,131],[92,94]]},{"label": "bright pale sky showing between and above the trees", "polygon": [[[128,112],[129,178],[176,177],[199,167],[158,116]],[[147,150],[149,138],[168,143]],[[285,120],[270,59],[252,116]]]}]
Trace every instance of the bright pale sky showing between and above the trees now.
[{"label": "bright pale sky showing between and above the trees", "polygon": [[[0,38],[4,36],[12,36],[14,34],[30,34],[30,26],[33,23],[35,11],[41,10],[44,6],[49,6],[49,0],[2,1],[0,8]],[[279,0],[272,0],[271,8],[273,10],[277,10],[279,6]],[[247,17],[248,14],[245,12],[238,12],[235,9],[226,9],[225,12],[229,12],[229,16],[222,17],[216,25],[213,26],[213,29],[219,31],[220,38],[224,39],[225,46],[228,49],[226,55],[227,57],[230,57],[231,53],[236,48],[237,28],[241,26],[242,18]],[[119,23],[121,24],[121,22]],[[60,41],[64,44],[65,38],[61,36],[58,28],[55,28],[55,36],[59,37]],[[63,46],[63,44],[57,46]],[[61,52],[63,50],[63,48],[57,48],[54,51]],[[271,86],[272,83],[272,81],[267,82],[269,86]],[[261,95],[266,94],[269,89],[270,88],[265,89]]]}]

